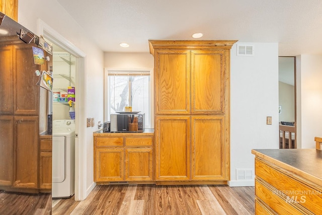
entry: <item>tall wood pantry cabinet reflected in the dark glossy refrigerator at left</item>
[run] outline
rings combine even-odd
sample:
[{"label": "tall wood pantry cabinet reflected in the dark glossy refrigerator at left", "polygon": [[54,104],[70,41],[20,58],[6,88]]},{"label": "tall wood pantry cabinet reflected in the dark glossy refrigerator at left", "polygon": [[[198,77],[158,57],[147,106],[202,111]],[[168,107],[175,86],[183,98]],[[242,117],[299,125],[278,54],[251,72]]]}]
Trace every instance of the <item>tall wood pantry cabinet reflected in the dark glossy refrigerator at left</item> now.
[{"label": "tall wood pantry cabinet reflected in the dark glossy refrigerator at left", "polygon": [[0,42],[0,189],[37,193],[40,87],[35,70],[47,70],[47,63],[34,63],[32,46]]}]

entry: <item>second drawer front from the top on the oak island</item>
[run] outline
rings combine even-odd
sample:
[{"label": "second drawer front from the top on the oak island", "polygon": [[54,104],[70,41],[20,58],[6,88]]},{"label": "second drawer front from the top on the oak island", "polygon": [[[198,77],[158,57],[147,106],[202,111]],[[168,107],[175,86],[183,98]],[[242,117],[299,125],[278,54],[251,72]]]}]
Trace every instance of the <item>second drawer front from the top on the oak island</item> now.
[{"label": "second drawer front from the top on the oak island", "polygon": [[305,214],[282,198],[277,190],[272,191],[257,179],[255,180],[255,195],[278,214]]}]

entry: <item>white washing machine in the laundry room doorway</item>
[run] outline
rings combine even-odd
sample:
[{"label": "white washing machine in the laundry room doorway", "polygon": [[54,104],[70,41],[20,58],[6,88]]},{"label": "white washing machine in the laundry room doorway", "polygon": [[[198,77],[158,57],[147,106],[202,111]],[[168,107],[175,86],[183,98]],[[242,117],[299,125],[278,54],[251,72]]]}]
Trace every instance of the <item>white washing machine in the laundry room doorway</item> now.
[{"label": "white washing machine in the laundry room doorway", "polygon": [[52,198],[70,198],[75,181],[75,120],[52,122]]}]

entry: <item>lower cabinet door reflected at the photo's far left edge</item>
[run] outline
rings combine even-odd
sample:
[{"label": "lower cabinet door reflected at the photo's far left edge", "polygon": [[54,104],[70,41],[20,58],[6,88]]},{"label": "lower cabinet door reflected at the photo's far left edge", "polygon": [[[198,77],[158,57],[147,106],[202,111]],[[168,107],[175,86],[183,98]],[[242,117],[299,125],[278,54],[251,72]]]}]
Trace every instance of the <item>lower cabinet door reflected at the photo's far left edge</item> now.
[{"label": "lower cabinet door reflected at the photo's far left edge", "polygon": [[14,117],[0,116],[0,189],[13,184]]}]

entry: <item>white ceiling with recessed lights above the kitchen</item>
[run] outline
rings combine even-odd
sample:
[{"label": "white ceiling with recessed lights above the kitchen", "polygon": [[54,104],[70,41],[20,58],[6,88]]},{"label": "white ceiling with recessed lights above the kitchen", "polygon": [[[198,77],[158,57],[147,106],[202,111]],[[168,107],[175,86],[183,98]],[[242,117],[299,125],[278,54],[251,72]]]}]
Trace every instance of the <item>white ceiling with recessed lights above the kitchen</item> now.
[{"label": "white ceiling with recessed lights above the kitchen", "polygon": [[322,53],[320,0],[57,1],[107,52],[148,52],[148,39],[202,32],[204,40],[278,42],[280,56]]}]

